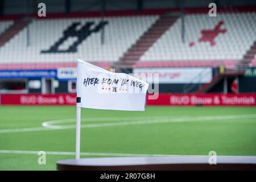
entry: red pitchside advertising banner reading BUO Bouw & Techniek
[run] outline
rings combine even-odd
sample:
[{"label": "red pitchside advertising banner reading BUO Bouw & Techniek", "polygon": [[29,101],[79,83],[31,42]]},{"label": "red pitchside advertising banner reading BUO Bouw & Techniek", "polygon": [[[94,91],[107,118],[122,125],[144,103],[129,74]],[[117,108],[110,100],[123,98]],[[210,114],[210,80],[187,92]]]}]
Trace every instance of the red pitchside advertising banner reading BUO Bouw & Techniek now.
[{"label": "red pitchside advertising banner reading BUO Bouw & Techniek", "polygon": [[[159,94],[147,105],[256,106],[256,94]],[[1,94],[1,105],[76,105],[76,94]]]}]

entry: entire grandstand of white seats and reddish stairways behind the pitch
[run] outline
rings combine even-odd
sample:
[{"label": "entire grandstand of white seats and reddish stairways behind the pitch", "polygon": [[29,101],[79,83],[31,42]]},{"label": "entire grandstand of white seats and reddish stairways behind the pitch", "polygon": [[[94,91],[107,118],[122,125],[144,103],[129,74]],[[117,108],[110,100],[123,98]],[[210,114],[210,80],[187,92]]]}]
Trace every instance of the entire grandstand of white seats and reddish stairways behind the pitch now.
[{"label": "entire grandstand of white seats and reddish stairways behind the pitch", "polygon": [[[23,14],[22,9],[14,11],[14,2],[3,2],[7,12],[2,13],[0,21],[0,69],[5,71],[75,68],[79,57],[119,72],[133,72],[133,68],[210,67],[214,77],[218,75],[216,68],[224,67],[226,72],[233,71],[234,80],[244,68],[256,64],[256,12],[250,1],[243,2],[243,6],[221,1],[216,17],[208,15],[209,8],[204,6],[207,2],[203,1],[197,7],[185,6],[193,1],[163,1],[158,9],[151,8],[156,2],[127,1],[135,6],[134,10],[122,10],[124,3],[119,5],[121,10],[108,10],[106,1],[92,5],[98,11],[51,10],[46,17],[33,13],[36,9],[31,8],[30,1],[20,3]],[[74,9],[82,4],[67,2]],[[47,3],[57,9],[57,1]],[[65,7],[65,3],[61,5]],[[187,86],[160,86],[160,90],[196,92],[203,86],[193,85],[191,80]]]}]

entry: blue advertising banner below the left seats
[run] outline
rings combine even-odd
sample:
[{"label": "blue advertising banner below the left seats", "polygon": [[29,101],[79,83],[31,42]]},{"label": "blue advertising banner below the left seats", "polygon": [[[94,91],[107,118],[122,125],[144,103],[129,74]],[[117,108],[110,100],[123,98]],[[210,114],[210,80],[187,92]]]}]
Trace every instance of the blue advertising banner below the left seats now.
[{"label": "blue advertising banner below the left seats", "polygon": [[0,78],[56,78],[55,69],[0,70]]}]

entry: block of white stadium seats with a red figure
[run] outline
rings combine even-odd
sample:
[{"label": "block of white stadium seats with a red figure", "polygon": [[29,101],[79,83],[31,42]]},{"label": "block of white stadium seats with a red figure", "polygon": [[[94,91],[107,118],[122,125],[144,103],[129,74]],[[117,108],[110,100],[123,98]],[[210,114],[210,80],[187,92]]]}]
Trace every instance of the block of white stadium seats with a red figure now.
[{"label": "block of white stadium seats with a red figure", "polygon": [[185,42],[179,18],[140,60],[241,60],[256,40],[255,21],[256,13],[185,15]]}]

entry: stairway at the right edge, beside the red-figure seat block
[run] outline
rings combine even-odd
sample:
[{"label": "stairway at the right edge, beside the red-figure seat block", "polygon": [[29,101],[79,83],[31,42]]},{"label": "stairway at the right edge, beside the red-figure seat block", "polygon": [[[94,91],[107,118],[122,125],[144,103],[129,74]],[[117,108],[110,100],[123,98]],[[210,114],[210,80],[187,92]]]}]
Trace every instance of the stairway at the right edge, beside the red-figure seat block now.
[{"label": "stairway at the right edge, beside the red-figure seat block", "polygon": [[253,46],[250,47],[249,51],[243,55],[243,59],[240,63],[237,64],[238,71],[243,71],[244,68],[248,67],[251,61],[254,60],[254,56],[256,55],[256,41],[254,42]]}]

